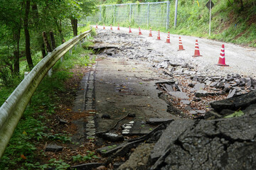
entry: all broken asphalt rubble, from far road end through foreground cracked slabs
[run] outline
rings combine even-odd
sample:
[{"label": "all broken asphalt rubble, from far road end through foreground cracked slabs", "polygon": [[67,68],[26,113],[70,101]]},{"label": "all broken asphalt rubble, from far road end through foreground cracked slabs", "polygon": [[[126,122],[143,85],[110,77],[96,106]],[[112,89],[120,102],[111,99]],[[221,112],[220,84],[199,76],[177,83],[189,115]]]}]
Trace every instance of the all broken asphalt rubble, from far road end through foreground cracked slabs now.
[{"label": "all broken asphalt rubble, from far road end through foreground cracked slabs", "polygon": [[[109,157],[106,164],[128,155],[127,162],[114,163],[114,169],[256,169],[255,79],[198,72],[198,66],[182,58],[171,60],[152,50],[143,38],[125,33],[100,32],[92,48],[102,57],[147,61],[165,74],[168,79],[156,84],[159,97],[169,103],[171,114],[181,117],[155,119],[151,132],[98,149]],[[100,137],[124,140],[114,132],[100,133]]]}]

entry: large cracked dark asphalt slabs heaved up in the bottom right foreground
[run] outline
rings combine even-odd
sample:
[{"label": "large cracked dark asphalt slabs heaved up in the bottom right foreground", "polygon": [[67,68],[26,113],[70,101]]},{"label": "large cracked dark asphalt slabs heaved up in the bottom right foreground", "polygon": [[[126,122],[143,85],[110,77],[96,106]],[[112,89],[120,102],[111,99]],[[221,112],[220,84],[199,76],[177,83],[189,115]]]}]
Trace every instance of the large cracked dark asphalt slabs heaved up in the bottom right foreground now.
[{"label": "large cracked dark asphalt slabs heaved up in the bottom right foreground", "polygon": [[172,122],[154,145],[151,169],[256,169],[256,91],[212,104],[221,111],[230,102],[245,115]]}]

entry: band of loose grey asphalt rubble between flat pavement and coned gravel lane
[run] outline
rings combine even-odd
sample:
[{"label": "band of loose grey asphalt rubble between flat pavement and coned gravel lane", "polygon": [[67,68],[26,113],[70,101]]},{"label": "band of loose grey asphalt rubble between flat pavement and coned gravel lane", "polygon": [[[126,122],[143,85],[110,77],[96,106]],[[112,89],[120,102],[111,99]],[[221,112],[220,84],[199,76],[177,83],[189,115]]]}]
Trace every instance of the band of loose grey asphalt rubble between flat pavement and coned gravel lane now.
[{"label": "band of loose grey asphalt rubble between flat pavement and coned gravel lane", "polygon": [[[92,47],[102,57],[127,57],[146,61],[167,81],[156,84],[169,112],[181,118],[204,118],[210,102],[246,94],[256,89],[256,79],[213,70],[150,48],[143,37],[127,33],[100,32]],[[193,57],[191,57],[193,58]],[[192,65],[193,64],[193,65]],[[201,66],[200,66],[201,67]]]}]

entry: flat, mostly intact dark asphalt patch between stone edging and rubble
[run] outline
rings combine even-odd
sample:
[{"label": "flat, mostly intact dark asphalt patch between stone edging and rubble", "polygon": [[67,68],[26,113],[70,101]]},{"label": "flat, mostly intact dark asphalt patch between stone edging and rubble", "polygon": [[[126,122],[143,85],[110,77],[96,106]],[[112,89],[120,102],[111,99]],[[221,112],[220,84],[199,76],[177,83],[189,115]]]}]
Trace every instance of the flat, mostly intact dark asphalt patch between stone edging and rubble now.
[{"label": "flat, mostly intact dark asphalt patch between stone edging and rubble", "polygon": [[[98,62],[95,81],[99,131],[108,130],[127,114],[146,123],[149,118],[174,118],[167,104],[158,97],[156,83],[165,77],[145,67],[146,62],[125,57],[107,57]],[[102,116],[110,115],[110,119]]]}]

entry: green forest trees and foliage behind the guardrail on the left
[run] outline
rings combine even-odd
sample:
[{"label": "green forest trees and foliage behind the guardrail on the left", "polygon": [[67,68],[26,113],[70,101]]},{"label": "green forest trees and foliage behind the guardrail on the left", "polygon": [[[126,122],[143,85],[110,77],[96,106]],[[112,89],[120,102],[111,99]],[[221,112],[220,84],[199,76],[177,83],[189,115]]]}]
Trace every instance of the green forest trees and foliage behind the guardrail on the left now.
[{"label": "green forest trees and foliage behind the guardrail on the left", "polygon": [[[78,19],[97,10],[92,0],[0,0],[0,86],[36,64],[38,52],[47,55],[42,32],[55,35],[57,46],[78,35]],[[27,64],[21,69],[20,61]]]}]

